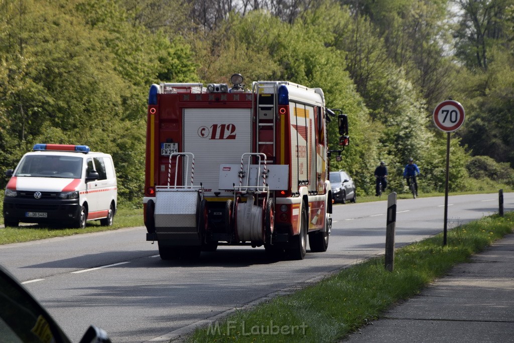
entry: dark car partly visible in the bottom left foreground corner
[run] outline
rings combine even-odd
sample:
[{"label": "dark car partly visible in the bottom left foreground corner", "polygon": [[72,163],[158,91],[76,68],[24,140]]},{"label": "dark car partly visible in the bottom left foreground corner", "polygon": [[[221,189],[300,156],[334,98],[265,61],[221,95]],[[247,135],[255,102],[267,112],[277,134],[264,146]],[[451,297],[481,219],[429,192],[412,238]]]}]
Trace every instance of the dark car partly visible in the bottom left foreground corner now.
[{"label": "dark car partly visible in the bottom left foreground corner", "polygon": [[[0,341],[70,342],[43,306],[1,265],[0,304]],[[105,331],[90,326],[81,342],[111,340]]]}]

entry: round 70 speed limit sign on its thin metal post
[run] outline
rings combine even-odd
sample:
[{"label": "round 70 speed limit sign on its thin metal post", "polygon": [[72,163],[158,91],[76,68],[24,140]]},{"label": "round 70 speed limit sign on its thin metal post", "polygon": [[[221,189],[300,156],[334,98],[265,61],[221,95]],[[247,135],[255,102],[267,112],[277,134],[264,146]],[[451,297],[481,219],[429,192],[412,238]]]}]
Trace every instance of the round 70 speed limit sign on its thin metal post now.
[{"label": "round 70 speed limit sign on its thin metal post", "polygon": [[464,107],[460,102],[452,99],[440,102],[435,106],[433,119],[435,126],[447,133],[446,140],[446,185],[445,185],[445,219],[443,232],[443,246],[447,243],[448,232],[448,183],[450,179],[450,133],[457,130],[464,123]]}]

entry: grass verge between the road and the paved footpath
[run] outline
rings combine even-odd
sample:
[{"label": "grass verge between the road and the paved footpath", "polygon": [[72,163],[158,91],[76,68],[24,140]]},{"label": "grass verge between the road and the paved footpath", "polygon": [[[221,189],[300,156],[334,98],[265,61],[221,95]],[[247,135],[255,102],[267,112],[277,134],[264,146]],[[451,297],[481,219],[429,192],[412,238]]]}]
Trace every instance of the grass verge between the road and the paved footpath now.
[{"label": "grass verge between the road and the paved footpath", "polygon": [[331,342],[356,331],[402,299],[416,295],[456,263],[466,262],[493,241],[513,232],[514,212],[492,215],[395,251],[393,272],[384,258],[353,265],[294,294],[235,311],[190,342]]}]

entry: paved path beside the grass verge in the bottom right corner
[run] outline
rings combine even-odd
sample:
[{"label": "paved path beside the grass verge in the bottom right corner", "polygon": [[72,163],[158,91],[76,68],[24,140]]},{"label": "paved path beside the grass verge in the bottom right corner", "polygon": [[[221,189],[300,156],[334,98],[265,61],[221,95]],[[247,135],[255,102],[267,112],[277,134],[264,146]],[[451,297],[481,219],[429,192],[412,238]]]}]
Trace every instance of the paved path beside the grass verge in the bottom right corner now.
[{"label": "paved path beside the grass verge in the bottom right corner", "polygon": [[514,342],[514,234],[343,342]]}]

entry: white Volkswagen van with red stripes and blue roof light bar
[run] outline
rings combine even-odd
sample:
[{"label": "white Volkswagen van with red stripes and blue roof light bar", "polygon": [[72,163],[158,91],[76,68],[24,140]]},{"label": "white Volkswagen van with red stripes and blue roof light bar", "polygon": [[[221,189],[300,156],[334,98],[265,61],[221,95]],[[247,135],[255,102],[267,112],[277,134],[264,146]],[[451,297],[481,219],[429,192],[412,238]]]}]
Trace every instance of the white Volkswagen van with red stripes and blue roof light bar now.
[{"label": "white Volkswagen van with red stripes and blue roof light bar", "polygon": [[109,154],[88,146],[36,144],[6,175],[6,227],[24,222],[84,228],[88,220],[113,225],[118,187]]}]

